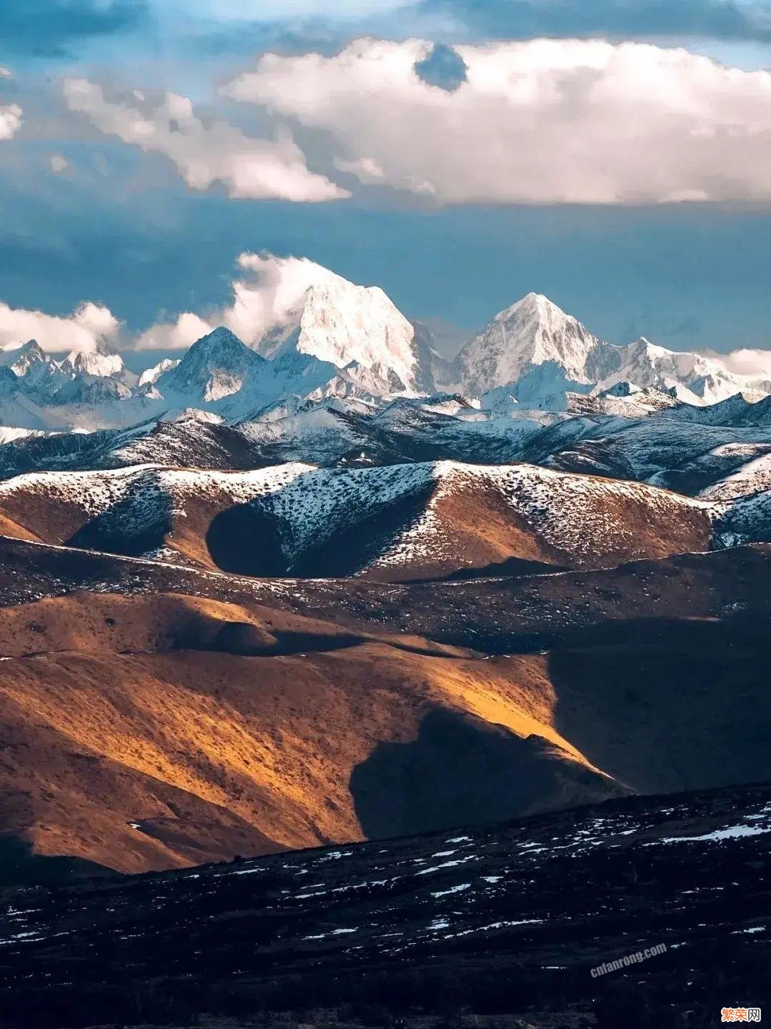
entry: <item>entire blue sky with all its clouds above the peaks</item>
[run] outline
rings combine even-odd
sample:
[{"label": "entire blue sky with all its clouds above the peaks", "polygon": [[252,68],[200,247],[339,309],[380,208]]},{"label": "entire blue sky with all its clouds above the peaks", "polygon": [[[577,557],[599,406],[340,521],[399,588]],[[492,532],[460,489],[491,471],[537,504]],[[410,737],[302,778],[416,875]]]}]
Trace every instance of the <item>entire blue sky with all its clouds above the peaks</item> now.
[{"label": "entire blue sky with all its clouds above the peaks", "polygon": [[771,347],[768,69],[765,0],[4,4],[0,345],[141,366],[306,257],[447,352],[530,290]]}]

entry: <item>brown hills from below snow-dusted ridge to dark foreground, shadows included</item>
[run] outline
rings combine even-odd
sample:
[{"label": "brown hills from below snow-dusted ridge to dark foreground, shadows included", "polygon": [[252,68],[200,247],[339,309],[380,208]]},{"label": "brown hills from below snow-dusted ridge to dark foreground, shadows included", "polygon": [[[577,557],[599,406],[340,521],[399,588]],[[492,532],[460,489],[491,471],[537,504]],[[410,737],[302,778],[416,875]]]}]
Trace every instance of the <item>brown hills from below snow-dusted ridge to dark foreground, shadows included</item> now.
[{"label": "brown hills from below snow-dusted ridge to dark foreground, shadows included", "polygon": [[2,611],[6,881],[769,774],[763,551],[351,590],[21,541],[3,558],[6,605],[36,561],[59,591]]}]

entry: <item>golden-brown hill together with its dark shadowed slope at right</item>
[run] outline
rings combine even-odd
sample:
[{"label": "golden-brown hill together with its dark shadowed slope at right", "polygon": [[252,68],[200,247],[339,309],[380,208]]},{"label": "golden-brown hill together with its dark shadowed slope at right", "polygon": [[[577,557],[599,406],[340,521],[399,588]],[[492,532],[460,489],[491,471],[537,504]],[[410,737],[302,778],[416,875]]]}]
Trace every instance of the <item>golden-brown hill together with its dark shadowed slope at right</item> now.
[{"label": "golden-brown hill together with its dark shadowed slope at right", "polygon": [[751,639],[597,632],[487,658],[182,595],[3,608],[3,840],[142,871],[768,774]]}]

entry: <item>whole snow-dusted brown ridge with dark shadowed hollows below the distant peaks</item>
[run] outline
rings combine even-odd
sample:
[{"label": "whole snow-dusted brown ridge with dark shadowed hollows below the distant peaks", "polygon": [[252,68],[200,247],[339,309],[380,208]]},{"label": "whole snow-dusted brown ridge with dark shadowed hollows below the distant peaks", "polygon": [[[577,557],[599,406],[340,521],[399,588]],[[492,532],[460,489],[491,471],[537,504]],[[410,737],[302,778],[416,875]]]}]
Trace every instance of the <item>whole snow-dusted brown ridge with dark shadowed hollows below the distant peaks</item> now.
[{"label": "whole snow-dusted brown ridge with dark shadowed hollows below the distant peaks", "polygon": [[707,549],[710,511],[638,483],[531,465],[141,465],[0,483],[0,517],[24,538],[247,575],[404,580],[516,562],[609,567]]}]

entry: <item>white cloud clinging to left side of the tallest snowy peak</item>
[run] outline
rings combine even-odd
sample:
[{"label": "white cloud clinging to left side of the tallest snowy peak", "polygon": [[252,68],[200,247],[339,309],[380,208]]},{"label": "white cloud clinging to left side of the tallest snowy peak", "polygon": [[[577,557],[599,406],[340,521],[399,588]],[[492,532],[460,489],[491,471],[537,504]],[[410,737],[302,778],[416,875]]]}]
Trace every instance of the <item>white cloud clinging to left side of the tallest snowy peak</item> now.
[{"label": "white cloud clinging to left side of the tallest snowy peak", "polygon": [[[230,304],[205,318],[185,312],[174,322],[154,325],[137,340],[137,349],[183,349],[218,325],[225,325],[248,345],[274,331],[272,342],[278,347],[282,327],[291,322],[308,289],[337,279],[334,272],[306,257],[245,252],[238,255],[237,267],[243,274],[231,284]],[[272,350],[267,344],[260,353],[270,356]]]}]

